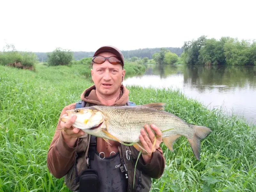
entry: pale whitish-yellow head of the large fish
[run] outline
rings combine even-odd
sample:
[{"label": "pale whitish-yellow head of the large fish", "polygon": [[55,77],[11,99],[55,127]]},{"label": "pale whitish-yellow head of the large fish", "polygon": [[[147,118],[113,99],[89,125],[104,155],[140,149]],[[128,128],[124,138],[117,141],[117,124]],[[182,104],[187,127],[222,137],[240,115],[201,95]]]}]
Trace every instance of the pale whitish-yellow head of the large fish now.
[{"label": "pale whitish-yellow head of the large fish", "polygon": [[72,126],[82,130],[97,127],[104,121],[103,114],[94,109],[75,108],[66,112],[67,114],[61,116],[61,121],[67,122],[72,116],[76,116],[76,121]]}]

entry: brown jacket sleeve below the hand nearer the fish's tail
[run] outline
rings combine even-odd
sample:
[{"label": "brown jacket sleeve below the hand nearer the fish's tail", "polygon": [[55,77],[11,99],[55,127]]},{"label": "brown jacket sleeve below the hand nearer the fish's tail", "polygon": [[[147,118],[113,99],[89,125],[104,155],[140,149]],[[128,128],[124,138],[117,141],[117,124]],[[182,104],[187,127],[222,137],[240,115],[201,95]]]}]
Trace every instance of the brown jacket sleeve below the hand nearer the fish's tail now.
[{"label": "brown jacket sleeve below the hand nearer the fish's tail", "polygon": [[[135,149],[133,146],[131,146],[131,151],[132,161],[135,164],[139,155],[139,151]],[[165,158],[161,147],[157,148],[156,151],[152,153],[150,162],[148,164],[144,163],[143,157],[142,155],[140,155],[137,167],[139,170],[147,174],[149,177],[159,179],[162,176],[165,167]]]}]

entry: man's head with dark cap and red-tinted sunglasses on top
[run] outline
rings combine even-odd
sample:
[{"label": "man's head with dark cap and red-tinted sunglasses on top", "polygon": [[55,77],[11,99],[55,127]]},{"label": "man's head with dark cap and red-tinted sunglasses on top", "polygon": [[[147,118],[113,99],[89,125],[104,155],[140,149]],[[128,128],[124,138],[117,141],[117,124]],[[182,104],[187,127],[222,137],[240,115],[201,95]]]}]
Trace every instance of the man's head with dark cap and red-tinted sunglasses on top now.
[{"label": "man's head with dark cap and red-tinted sunglasses on top", "polygon": [[119,92],[125,75],[123,68],[124,56],[120,50],[113,46],[100,47],[92,58],[91,74],[96,90],[103,95]]}]

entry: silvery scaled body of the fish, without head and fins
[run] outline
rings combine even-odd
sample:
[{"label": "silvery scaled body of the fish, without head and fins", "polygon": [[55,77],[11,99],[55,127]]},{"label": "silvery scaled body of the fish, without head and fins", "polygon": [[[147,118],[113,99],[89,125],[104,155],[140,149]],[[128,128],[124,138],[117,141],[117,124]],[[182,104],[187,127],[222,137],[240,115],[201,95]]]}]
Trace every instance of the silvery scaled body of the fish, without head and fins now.
[{"label": "silvery scaled body of the fish, without head and fins", "polygon": [[94,106],[94,108],[106,117],[107,131],[123,142],[139,142],[140,130],[145,124],[155,124],[161,131],[172,129],[163,132],[163,138],[170,135],[184,135],[189,139],[195,133],[195,130],[184,120],[164,110],[146,106]]}]

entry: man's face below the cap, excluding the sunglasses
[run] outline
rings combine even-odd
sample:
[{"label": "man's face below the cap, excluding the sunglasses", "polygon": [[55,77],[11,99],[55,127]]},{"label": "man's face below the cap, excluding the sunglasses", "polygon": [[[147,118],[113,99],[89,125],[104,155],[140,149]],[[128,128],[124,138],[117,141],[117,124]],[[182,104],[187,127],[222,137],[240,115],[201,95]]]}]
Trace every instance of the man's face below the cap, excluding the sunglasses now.
[{"label": "man's face below the cap, excluding the sunglasses", "polygon": [[[109,52],[100,53],[99,55],[104,57],[116,56]],[[122,69],[121,64],[113,65],[105,60],[102,64],[93,63],[91,74],[98,92],[103,95],[112,95],[117,91],[119,92],[125,70]]]}]

